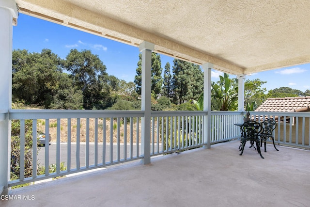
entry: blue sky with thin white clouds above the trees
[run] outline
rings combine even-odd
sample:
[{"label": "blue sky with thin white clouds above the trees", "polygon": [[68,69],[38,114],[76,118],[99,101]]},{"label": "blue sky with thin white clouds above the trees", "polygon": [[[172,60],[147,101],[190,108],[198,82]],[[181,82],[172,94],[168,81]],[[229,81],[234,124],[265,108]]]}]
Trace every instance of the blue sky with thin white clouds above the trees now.
[{"label": "blue sky with thin white clouds above the trees", "polygon": [[[70,49],[90,49],[99,56],[107,67],[107,73],[125,81],[133,81],[139,61],[139,48],[99,37],[86,32],[74,30],[62,25],[42,19],[20,14],[17,26],[13,27],[13,49],[27,49],[28,52],[41,52],[42,49],[51,49],[53,53],[64,59]],[[171,65],[173,58],[160,55],[161,66],[167,62]],[[219,80],[218,75],[223,73],[212,71],[212,80]],[[230,75],[230,78],[234,78]],[[263,87],[267,91],[290,87],[302,92],[310,89],[310,64],[269,70],[251,74],[246,79],[260,79],[267,81]]]}]

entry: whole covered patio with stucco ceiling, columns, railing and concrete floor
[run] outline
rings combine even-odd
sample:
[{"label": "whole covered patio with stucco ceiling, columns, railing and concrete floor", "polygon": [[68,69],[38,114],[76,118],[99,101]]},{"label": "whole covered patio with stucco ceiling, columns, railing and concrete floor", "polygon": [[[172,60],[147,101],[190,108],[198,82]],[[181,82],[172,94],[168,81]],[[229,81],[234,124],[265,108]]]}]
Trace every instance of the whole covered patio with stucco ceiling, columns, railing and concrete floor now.
[{"label": "whole covered patio with stucco ceiling, columns, railing and concrete floor", "polygon": [[[279,146],[277,152],[269,147],[267,153],[263,153],[265,159],[261,159],[257,151],[247,148],[243,156],[239,156],[240,143],[235,139],[240,132],[234,124],[243,121],[247,74],[310,63],[309,11],[310,3],[300,0],[197,0],[190,4],[178,0],[165,3],[161,0],[0,0],[0,193],[29,196],[22,196],[21,200],[1,199],[1,205],[307,206],[310,203],[309,151]],[[12,25],[18,26],[20,12],[139,47],[142,53],[141,110],[12,110]],[[204,71],[203,111],[151,111],[148,83],[151,82],[152,51],[201,65]],[[237,75],[238,111],[211,111],[211,69]],[[292,122],[281,126],[289,129],[287,140],[283,140],[285,134],[280,132],[275,138],[277,144],[309,149],[310,134],[305,133],[305,128],[309,128],[309,113],[263,111],[252,115],[302,117],[301,123],[295,123],[301,128],[301,131],[298,127],[295,129],[295,134],[302,134],[301,142],[292,135]],[[129,148],[121,148],[118,127],[116,156],[113,157],[111,147],[108,160],[103,156],[101,161],[96,148],[94,163],[90,163],[89,139],[86,139],[83,158],[80,158],[77,141],[77,154],[72,156],[77,161],[76,166],[71,168],[69,161],[67,169],[61,171],[59,131],[62,119],[68,125],[68,145],[71,143],[71,119],[77,119],[78,123],[85,118],[88,127],[93,119],[96,132],[104,131],[101,151],[105,154],[113,131],[109,138],[105,127],[98,129],[98,121],[120,122],[124,117],[130,118],[130,131],[137,128],[136,140],[140,145],[136,143],[136,153],[132,153],[135,143],[131,135],[126,137],[130,140]],[[20,145],[24,146],[25,120],[34,123],[32,134],[36,142],[39,119],[45,120],[46,134],[51,119],[58,123],[56,173],[49,174],[46,170],[45,175],[37,175],[34,167],[32,177],[25,178],[21,170],[19,180],[12,181],[11,121],[20,120]],[[109,124],[113,128],[113,122]],[[184,130],[185,126],[189,128]],[[89,138],[88,132],[85,136]],[[186,140],[181,141],[180,134]],[[77,140],[79,137],[77,133]],[[162,142],[160,147],[159,142]],[[95,141],[94,145],[97,147],[98,143]],[[36,166],[37,147],[32,147],[32,164]],[[201,148],[188,150],[196,147]],[[48,144],[45,149],[48,169]],[[24,150],[21,147],[21,154]],[[67,160],[71,160],[71,148],[66,150]],[[122,150],[129,156],[121,157]],[[173,154],[166,155],[169,153]],[[86,160],[85,166],[80,166],[79,159]],[[21,158],[21,166],[24,166],[23,161]],[[130,163],[124,164],[128,161]],[[18,184],[112,164],[117,166],[10,190]]]}]

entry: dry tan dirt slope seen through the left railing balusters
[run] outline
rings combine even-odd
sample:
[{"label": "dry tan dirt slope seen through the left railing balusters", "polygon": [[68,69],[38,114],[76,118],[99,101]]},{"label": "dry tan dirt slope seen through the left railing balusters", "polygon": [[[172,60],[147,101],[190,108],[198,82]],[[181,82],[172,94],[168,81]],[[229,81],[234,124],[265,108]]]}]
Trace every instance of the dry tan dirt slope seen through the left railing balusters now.
[{"label": "dry tan dirt slope seen through the left railing balusters", "polygon": [[[117,121],[113,121],[113,130],[110,131],[110,120],[107,118],[106,122],[104,122],[103,119],[97,119],[98,120],[98,142],[103,142],[103,125],[106,126],[106,142],[110,142],[110,135],[112,133],[113,137],[113,143],[117,142]],[[37,131],[41,133],[45,133],[45,120],[41,119],[37,121]],[[51,142],[57,141],[57,119],[50,119],[49,120],[49,134],[51,136]],[[80,142],[86,142],[86,132],[87,132],[87,121],[85,119],[80,119]],[[119,136],[121,143],[124,143],[124,124],[121,123]],[[128,123],[127,126],[127,143],[130,142],[130,124]],[[71,142],[77,141],[77,119],[71,119],[71,125],[70,125],[70,131],[71,131]],[[139,130],[140,133],[140,130]],[[135,122],[133,125],[132,130],[132,137],[133,142],[136,142],[137,140],[137,123]],[[139,135],[140,137],[140,135]],[[61,119],[61,136],[60,136],[61,142],[67,142],[68,140],[68,121],[67,119]],[[89,141],[94,142],[95,141],[95,119],[90,118],[89,119]]]}]

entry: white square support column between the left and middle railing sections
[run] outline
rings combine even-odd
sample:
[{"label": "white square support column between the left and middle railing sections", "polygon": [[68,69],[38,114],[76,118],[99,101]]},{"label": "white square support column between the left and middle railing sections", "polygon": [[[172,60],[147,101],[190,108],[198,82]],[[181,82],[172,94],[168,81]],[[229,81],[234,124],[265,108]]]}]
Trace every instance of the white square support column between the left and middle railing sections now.
[{"label": "white square support column between the left and middle railing sections", "polygon": [[144,111],[144,117],[141,118],[141,154],[144,157],[143,164],[149,164],[151,162],[151,67],[154,44],[142,42],[139,49],[142,52],[141,110]]}]

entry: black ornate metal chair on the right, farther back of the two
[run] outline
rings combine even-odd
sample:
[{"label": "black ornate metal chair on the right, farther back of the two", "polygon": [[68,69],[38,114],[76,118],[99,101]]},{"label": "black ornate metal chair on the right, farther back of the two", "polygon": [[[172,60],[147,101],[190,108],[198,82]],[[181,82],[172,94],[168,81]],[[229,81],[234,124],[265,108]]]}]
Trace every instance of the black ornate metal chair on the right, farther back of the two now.
[{"label": "black ornate metal chair on the right, farther back of the two", "polygon": [[277,149],[277,147],[275,145],[275,139],[272,135],[272,132],[277,127],[276,121],[272,118],[265,119],[261,125],[263,127],[263,131],[261,133],[259,133],[258,136],[261,138],[261,146],[264,145],[264,147],[265,147],[265,152],[267,152],[266,151],[266,141],[268,138],[272,139],[273,146],[275,147],[275,149],[277,151],[279,151],[279,149]]}]

